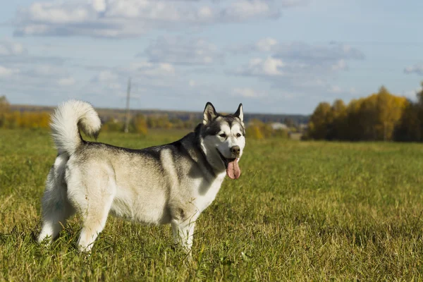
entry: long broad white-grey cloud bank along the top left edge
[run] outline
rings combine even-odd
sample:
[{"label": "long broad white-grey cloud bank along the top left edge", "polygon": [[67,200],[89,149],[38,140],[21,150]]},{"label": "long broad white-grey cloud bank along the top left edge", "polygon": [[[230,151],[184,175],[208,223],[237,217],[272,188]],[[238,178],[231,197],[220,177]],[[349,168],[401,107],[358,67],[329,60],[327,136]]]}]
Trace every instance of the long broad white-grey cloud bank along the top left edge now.
[{"label": "long broad white-grey cloud bank along the top left edge", "polygon": [[80,0],[41,2],[20,8],[16,35],[135,37],[168,27],[236,23],[278,18],[304,0]]}]

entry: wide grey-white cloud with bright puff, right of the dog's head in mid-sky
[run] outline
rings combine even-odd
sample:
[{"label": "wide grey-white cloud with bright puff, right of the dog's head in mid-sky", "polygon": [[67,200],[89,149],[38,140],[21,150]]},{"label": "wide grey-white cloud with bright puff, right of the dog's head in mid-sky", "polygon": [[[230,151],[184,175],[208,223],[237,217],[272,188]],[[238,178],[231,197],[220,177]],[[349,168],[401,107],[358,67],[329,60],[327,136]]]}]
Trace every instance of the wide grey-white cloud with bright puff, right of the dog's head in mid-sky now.
[{"label": "wide grey-white cloud with bright puff, right of the dog's head in mid-sky", "polygon": [[[235,75],[255,76],[270,82],[273,87],[291,92],[321,91],[326,93],[352,94],[329,82],[336,74],[348,70],[349,60],[362,60],[362,51],[345,44],[315,45],[304,42],[278,43],[276,39],[264,38],[255,44],[238,47],[247,53],[269,53],[266,59],[250,59],[246,66],[232,72]],[[234,51],[235,49],[233,49]]]}]

